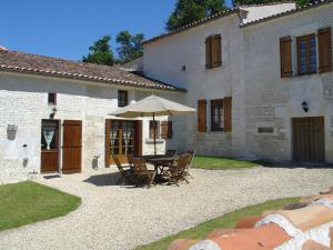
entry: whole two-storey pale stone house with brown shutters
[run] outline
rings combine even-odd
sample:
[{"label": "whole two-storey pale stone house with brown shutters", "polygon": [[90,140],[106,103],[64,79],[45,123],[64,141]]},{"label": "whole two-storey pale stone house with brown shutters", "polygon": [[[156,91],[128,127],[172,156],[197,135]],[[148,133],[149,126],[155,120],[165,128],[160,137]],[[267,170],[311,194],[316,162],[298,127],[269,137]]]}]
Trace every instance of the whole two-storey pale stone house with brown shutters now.
[{"label": "whole two-storey pale stone house with brown shutters", "polygon": [[332,163],[332,1],[240,7],[145,41],[143,71],[188,90],[200,154]]}]

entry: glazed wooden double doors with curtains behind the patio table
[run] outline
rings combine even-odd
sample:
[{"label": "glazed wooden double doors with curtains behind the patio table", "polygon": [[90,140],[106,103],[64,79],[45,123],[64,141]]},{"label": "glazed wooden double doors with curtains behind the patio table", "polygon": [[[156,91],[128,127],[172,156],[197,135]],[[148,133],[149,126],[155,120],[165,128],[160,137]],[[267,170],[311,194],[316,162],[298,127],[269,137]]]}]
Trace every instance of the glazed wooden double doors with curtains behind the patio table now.
[{"label": "glazed wooden double doors with curtains behind the patio table", "polygon": [[121,163],[128,162],[128,156],[142,154],[142,121],[107,120],[105,124],[105,164],[114,164],[112,156]]}]

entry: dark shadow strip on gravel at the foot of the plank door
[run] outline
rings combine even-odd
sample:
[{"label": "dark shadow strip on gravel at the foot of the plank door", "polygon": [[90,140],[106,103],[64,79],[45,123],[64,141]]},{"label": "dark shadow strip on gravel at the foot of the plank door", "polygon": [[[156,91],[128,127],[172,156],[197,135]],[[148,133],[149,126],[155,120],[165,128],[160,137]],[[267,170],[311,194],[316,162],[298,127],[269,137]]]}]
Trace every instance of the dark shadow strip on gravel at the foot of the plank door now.
[{"label": "dark shadow strip on gravel at the foot of the plank door", "polygon": [[279,168],[279,169],[333,169],[333,164],[329,163],[304,163],[304,162],[269,162],[269,161],[253,161],[263,168]]}]

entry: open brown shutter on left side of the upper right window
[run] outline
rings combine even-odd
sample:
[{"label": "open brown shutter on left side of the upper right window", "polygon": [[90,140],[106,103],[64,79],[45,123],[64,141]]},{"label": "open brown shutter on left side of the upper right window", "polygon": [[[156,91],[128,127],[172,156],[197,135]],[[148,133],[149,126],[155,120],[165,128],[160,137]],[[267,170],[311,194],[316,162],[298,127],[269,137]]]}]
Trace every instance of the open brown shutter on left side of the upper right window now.
[{"label": "open brown shutter on left side of the upper right window", "polygon": [[290,78],[293,74],[291,44],[291,37],[280,39],[281,78]]}]

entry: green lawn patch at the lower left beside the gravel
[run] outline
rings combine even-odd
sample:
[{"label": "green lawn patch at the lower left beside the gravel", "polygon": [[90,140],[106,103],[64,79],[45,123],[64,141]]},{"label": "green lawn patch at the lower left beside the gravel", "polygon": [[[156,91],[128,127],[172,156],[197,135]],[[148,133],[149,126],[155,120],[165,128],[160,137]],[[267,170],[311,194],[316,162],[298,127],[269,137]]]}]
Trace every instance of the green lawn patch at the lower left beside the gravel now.
[{"label": "green lawn patch at the lower left beside the gravel", "polygon": [[81,198],[24,181],[0,186],[0,231],[65,216]]}]

